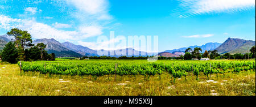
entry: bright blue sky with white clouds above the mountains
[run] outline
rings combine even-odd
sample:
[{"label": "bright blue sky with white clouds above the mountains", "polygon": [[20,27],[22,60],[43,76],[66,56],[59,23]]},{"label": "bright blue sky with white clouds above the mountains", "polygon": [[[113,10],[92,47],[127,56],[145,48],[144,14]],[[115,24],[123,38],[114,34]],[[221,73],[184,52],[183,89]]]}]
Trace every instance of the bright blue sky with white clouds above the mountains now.
[{"label": "bright blue sky with white clouds above the mountains", "polygon": [[[120,43],[110,31],[115,37],[158,36],[162,52],[229,37],[255,41],[255,0],[0,0],[0,35],[11,28],[28,31],[33,40],[91,49]],[[97,42],[100,36],[108,42]]]}]

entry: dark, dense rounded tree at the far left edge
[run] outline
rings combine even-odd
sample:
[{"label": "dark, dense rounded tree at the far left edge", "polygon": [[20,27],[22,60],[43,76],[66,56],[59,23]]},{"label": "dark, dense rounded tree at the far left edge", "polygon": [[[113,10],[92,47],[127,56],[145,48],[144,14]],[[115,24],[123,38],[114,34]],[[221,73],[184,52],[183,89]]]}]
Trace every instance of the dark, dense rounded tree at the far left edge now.
[{"label": "dark, dense rounded tree at the far left edge", "polygon": [[18,62],[18,50],[15,48],[14,42],[8,42],[3,48],[1,53],[2,61],[9,63],[17,63]]}]

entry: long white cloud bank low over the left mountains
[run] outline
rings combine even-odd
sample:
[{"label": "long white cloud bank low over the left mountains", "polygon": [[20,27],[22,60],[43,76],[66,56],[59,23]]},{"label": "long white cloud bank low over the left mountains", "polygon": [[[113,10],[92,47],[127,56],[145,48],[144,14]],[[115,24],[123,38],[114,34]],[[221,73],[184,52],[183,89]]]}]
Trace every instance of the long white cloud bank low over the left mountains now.
[{"label": "long white cloud bank low over the left mountains", "polygon": [[[44,23],[38,23],[35,19],[13,19],[9,16],[0,15],[0,28],[9,31],[11,28],[20,28],[28,31],[35,39],[38,38],[55,38],[58,41],[83,40],[87,37],[99,36],[102,34],[101,28],[80,27],[76,31],[63,31],[51,27]],[[90,32],[93,30],[93,32]]]}]

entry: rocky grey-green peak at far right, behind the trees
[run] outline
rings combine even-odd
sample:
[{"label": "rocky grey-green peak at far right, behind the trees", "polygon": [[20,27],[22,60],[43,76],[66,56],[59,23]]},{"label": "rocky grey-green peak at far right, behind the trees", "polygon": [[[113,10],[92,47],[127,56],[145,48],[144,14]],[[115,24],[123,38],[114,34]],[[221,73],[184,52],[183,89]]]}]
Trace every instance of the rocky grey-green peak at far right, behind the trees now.
[{"label": "rocky grey-green peak at far right, behind the trees", "polygon": [[250,53],[251,47],[255,46],[255,41],[242,40],[240,38],[228,38],[223,44],[221,44],[216,50],[219,54],[224,53]]}]

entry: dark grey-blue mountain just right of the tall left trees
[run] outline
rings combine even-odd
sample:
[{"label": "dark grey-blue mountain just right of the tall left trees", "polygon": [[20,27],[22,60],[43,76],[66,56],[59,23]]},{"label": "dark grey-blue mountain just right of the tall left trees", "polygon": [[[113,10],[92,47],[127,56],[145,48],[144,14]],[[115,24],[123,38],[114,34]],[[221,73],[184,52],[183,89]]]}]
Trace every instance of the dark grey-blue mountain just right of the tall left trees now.
[{"label": "dark grey-blue mountain just right of the tall left trees", "polygon": [[65,46],[63,46],[62,44],[60,44],[60,42],[56,41],[53,38],[34,40],[33,44],[36,45],[41,42],[47,45],[46,50],[48,53],[55,53],[57,57],[82,57],[81,54],[65,48]]}]

